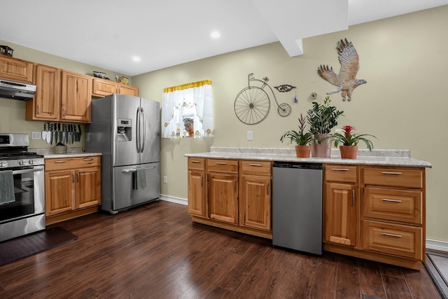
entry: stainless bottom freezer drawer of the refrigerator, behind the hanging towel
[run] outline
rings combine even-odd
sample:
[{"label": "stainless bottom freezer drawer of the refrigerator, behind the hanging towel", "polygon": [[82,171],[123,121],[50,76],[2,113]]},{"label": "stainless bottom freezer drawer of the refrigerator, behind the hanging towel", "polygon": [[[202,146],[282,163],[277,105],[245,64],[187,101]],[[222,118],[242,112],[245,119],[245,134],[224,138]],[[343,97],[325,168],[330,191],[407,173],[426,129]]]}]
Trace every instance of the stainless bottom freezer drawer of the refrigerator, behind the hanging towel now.
[{"label": "stainless bottom freezer drawer of the refrigerator, behind the hanging towel", "polygon": [[[138,168],[146,169],[146,188],[134,188]],[[111,207],[120,211],[160,198],[160,162],[113,167]],[[115,188],[113,187],[115,186]]]}]

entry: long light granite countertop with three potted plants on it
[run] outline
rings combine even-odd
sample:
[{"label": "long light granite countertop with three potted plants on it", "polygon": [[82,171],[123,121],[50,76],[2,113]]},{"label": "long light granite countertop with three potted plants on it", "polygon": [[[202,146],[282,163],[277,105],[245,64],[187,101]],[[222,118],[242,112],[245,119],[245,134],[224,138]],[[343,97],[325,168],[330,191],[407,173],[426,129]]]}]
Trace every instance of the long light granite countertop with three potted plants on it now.
[{"label": "long light granite countertop with three potted plants on it", "polygon": [[216,158],[235,160],[260,160],[280,162],[311,162],[334,163],[345,165],[384,165],[401,167],[431,168],[430,162],[411,158],[409,150],[377,149],[372,152],[367,149],[358,150],[358,158],[342,159],[339,150],[332,148],[330,158],[297,158],[294,148],[239,148],[211,146],[209,152],[186,153],[186,157]]}]

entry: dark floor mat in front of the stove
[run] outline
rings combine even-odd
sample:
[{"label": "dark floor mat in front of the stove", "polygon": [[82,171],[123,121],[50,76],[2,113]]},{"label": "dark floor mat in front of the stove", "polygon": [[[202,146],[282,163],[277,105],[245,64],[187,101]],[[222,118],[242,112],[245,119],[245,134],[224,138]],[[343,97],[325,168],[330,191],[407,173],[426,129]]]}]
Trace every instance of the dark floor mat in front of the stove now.
[{"label": "dark floor mat in front of the stove", "polygon": [[63,228],[50,228],[41,232],[10,239],[0,243],[0,267],[15,260],[55,248],[77,239]]}]

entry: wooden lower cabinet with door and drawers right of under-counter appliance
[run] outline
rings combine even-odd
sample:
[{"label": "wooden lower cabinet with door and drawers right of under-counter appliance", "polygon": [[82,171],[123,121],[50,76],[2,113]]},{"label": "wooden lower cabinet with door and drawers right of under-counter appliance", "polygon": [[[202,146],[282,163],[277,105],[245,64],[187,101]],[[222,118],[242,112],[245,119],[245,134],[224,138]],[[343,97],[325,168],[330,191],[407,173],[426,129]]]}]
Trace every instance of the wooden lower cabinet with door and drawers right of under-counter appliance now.
[{"label": "wooden lower cabinet with door and drawers right of under-counter appliance", "polygon": [[421,269],[425,169],[355,167],[350,176],[350,167],[325,165],[323,249]]}]

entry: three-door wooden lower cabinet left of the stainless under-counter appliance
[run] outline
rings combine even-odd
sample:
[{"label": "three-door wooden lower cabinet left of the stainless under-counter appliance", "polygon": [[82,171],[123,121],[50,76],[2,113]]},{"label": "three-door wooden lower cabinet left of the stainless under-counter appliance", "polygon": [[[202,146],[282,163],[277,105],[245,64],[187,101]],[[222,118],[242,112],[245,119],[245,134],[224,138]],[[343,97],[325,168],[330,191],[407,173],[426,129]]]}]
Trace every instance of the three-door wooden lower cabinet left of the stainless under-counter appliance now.
[{"label": "three-door wooden lower cabinet left of the stainless under-counter appliance", "polygon": [[188,213],[197,223],[272,239],[271,167],[265,161],[188,158]]}]

